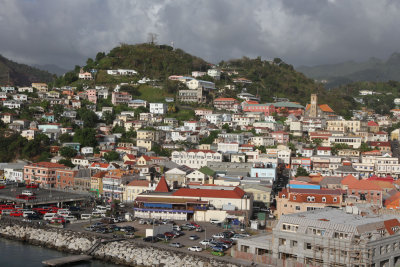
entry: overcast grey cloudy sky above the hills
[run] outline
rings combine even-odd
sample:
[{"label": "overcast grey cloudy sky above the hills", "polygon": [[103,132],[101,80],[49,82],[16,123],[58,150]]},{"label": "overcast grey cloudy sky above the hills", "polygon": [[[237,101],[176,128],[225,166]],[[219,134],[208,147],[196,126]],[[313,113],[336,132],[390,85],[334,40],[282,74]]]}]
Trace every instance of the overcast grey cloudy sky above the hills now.
[{"label": "overcast grey cloudy sky above the hills", "polygon": [[0,54],[72,68],[151,32],[212,63],[386,59],[400,50],[399,14],[396,0],[0,0]]}]

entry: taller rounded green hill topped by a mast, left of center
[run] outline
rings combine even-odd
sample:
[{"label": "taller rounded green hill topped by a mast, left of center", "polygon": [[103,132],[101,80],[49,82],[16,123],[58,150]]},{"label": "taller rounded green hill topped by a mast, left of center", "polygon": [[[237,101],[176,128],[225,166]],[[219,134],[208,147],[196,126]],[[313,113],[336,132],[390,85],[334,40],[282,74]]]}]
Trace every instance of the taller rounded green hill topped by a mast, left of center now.
[{"label": "taller rounded green hill topped by a mast, left of center", "polygon": [[203,59],[168,45],[122,44],[107,55],[100,52],[94,60],[88,59],[85,69],[134,69],[143,76],[163,80],[173,74],[191,75],[193,70],[204,71],[208,65]]}]

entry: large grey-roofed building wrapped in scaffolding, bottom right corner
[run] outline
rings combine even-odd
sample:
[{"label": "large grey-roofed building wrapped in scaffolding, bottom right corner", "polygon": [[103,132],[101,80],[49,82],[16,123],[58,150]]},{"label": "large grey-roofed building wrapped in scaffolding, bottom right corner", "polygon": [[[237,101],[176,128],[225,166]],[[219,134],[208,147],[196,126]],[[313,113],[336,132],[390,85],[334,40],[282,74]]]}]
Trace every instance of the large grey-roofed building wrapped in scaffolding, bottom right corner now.
[{"label": "large grey-roofed building wrapped in scaffolding, bottom right corner", "polygon": [[235,255],[276,266],[392,267],[400,263],[399,229],[393,216],[324,208],[283,215],[272,234],[238,240]]}]

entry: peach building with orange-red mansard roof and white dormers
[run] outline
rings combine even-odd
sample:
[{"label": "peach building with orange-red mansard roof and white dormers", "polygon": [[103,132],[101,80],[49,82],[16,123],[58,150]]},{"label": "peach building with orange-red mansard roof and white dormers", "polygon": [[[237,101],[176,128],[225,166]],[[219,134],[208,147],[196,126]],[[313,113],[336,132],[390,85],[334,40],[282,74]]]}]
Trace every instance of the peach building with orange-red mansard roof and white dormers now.
[{"label": "peach building with orange-red mansard roof and white dormers", "polygon": [[306,212],[327,206],[342,206],[340,189],[294,189],[285,188],[276,198],[276,216]]}]

